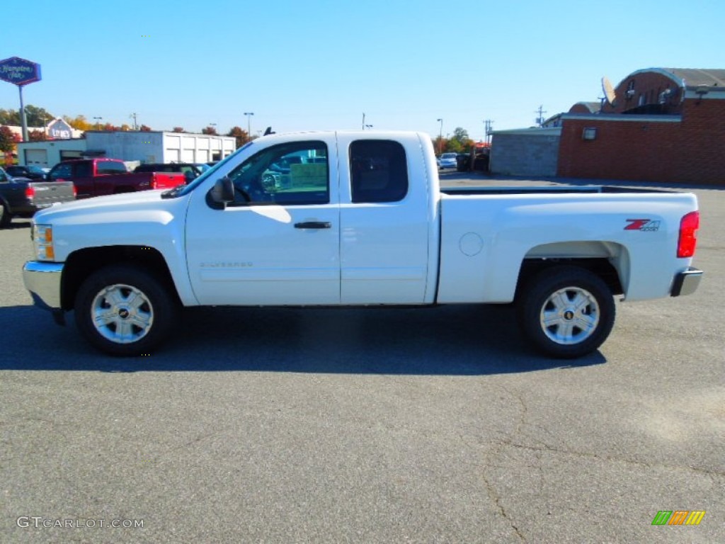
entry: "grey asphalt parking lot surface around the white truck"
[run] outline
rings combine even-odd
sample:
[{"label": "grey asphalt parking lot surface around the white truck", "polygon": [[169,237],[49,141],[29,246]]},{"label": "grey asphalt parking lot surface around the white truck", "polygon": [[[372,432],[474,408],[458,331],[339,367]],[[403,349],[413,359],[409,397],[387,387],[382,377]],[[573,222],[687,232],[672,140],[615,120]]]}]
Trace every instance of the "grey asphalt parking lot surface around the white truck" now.
[{"label": "grey asphalt parking lot surface around the white truck", "polygon": [[725,190],[694,191],[700,289],[618,303],[564,363],[471,305],[195,309],[161,352],[107,358],[30,306],[15,220],[0,542],[725,542]]}]

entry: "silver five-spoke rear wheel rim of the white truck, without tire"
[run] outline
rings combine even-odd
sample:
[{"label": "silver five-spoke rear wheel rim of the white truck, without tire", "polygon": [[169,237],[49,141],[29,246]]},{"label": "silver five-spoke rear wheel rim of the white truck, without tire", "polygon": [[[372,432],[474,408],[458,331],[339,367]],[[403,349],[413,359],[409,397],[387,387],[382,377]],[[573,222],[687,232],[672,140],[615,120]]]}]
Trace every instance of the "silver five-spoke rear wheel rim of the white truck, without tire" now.
[{"label": "silver five-spoke rear wheel rim of the white truck, without tire", "polygon": [[592,336],[599,324],[597,299],[581,287],[565,287],[553,292],[539,313],[544,334],[562,345],[579,344]]}]

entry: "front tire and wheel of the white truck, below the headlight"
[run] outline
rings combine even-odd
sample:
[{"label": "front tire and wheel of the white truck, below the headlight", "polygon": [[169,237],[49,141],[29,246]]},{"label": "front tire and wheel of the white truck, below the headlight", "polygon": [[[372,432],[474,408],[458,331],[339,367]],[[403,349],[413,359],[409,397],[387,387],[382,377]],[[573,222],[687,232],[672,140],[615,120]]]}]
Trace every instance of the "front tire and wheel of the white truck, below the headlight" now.
[{"label": "front tire and wheel of the white truck, below the headlight", "polygon": [[75,323],[88,342],[109,355],[149,355],[173,330],[179,305],[145,270],[111,265],[88,276],[75,297]]}]

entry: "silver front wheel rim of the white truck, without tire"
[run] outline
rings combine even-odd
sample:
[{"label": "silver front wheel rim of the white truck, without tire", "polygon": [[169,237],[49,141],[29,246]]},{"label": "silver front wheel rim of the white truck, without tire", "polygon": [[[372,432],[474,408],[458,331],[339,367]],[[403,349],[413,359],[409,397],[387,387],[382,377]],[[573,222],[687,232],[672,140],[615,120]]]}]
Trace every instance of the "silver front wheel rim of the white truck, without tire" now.
[{"label": "silver front wheel rim of the white truck, without tire", "polygon": [[136,287],[109,285],[91,302],[91,322],[96,331],[116,344],[138,342],[154,324],[154,307]]}]

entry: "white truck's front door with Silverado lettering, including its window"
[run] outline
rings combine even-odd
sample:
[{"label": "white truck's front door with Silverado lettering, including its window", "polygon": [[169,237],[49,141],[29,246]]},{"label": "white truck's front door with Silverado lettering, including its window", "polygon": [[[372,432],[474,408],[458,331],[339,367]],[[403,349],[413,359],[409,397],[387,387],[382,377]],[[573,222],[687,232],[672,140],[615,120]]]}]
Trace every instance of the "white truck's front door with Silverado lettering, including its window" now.
[{"label": "white truck's front door with Silverado lettering, including its window", "polygon": [[338,175],[328,148],[334,140],[261,149],[228,173],[236,196],[224,209],[208,199],[208,184],[194,191],[186,255],[200,304],[339,304]]}]

